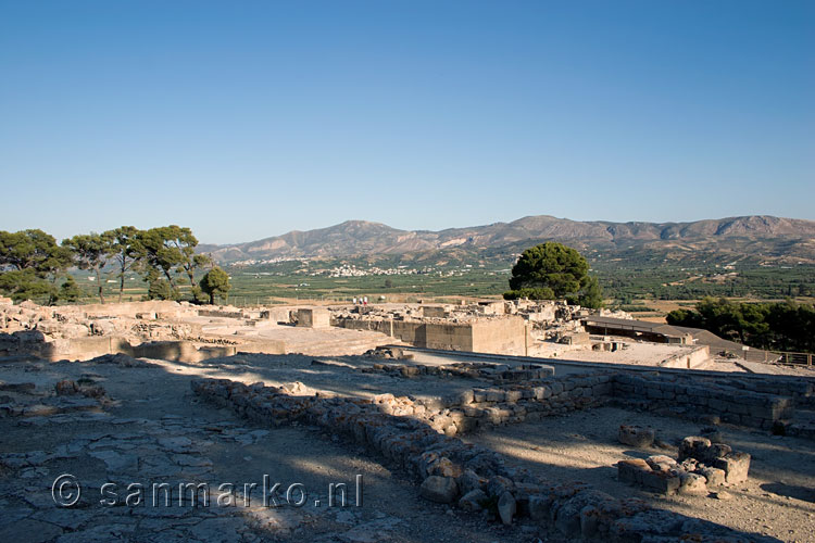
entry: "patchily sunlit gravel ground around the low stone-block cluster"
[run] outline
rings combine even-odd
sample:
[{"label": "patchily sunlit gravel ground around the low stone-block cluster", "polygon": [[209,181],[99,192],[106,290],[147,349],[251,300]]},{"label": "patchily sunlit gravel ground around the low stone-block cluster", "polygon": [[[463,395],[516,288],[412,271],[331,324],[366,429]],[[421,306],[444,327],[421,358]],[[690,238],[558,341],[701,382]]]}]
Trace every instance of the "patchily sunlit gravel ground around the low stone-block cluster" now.
[{"label": "patchily sunlit gravel ground around the low stone-block cluster", "polygon": [[815,443],[723,427],[725,442],[750,453],[747,483],[728,488],[732,496],[659,496],[617,481],[615,464],[652,454],[676,457],[675,450],[632,450],[617,441],[619,425],[650,426],[657,439],[676,444],[700,427],[675,418],[602,407],[540,422],[506,426],[465,437],[505,454],[551,480],[578,480],[617,497],[640,497],[657,507],[704,518],[782,541],[815,542]]}]

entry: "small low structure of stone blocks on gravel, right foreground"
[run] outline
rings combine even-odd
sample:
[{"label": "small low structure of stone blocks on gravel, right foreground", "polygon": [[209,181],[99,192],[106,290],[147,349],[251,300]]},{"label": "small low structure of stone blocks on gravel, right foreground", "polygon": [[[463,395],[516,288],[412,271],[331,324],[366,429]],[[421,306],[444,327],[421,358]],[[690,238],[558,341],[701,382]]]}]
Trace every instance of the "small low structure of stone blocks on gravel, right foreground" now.
[{"label": "small low structure of stone blocks on gravel, right foreground", "polygon": [[665,495],[707,495],[711,490],[725,484],[747,481],[749,470],[748,453],[701,437],[685,438],[677,459],[652,455],[617,463],[620,481]]}]

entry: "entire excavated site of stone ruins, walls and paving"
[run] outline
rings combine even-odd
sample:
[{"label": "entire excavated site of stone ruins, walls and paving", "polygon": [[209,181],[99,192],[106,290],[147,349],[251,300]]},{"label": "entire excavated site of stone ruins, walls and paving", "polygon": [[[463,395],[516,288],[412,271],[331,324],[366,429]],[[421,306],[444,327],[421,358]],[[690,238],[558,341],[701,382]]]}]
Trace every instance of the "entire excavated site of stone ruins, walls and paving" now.
[{"label": "entire excavated site of stone ruins, walls and paving", "polygon": [[815,375],[692,331],[504,302],[0,314],[0,541],[815,542]]}]

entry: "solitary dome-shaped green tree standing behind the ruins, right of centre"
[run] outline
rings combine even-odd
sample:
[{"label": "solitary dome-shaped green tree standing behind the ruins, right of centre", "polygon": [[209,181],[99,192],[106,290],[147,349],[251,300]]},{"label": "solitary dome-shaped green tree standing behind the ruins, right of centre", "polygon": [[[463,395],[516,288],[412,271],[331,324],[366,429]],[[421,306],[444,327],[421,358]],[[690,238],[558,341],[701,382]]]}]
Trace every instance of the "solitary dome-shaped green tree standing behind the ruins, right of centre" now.
[{"label": "solitary dome-shaped green tree standing behind the ruins, right of centre", "polygon": [[589,276],[589,263],[575,249],[552,241],[521,254],[512,268],[511,291],[504,298],[566,298],[587,307],[602,306],[600,285]]}]

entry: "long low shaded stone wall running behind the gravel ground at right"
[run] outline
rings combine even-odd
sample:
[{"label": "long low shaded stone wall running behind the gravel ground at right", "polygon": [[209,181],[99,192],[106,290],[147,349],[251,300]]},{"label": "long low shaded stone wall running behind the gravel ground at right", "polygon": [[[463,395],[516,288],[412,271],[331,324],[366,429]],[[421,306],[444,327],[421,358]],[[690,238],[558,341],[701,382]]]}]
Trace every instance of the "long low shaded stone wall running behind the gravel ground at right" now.
[{"label": "long low shaded stone wall running behind the gravel ground at right", "polygon": [[[511,368],[507,366],[507,369]],[[506,383],[502,382],[500,375],[486,375],[472,363],[431,367],[384,362],[374,365],[373,370],[403,377],[449,374],[492,380],[492,387],[473,389],[473,399],[465,396],[466,400],[460,402],[450,399],[441,401],[442,405],[464,415],[461,418],[461,414],[456,413],[459,419],[455,424],[465,431],[477,426],[536,420],[575,408],[615,402],[626,407],[701,422],[723,421],[762,430],[775,430],[781,425],[782,431],[788,434],[815,437],[815,429],[790,422],[795,405],[810,407],[815,401],[815,380],[811,379],[604,370],[546,378],[530,374],[521,382]],[[439,428],[446,426],[434,425]]]}]

